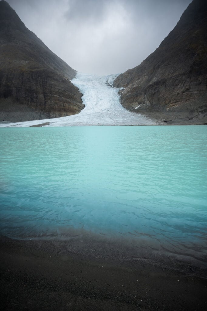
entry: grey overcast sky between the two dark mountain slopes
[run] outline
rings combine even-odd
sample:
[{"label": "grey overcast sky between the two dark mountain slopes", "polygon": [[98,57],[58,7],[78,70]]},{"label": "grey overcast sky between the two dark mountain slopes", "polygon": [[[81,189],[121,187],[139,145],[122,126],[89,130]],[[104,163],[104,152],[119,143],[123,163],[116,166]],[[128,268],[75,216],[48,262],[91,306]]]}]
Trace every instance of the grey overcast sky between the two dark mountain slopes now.
[{"label": "grey overcast sky between the two dark mountain slopes", "polygon": [[79,72],[139,65],[191,0],[7,0],[25,26]]}]

